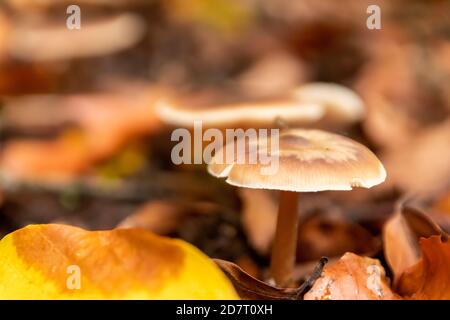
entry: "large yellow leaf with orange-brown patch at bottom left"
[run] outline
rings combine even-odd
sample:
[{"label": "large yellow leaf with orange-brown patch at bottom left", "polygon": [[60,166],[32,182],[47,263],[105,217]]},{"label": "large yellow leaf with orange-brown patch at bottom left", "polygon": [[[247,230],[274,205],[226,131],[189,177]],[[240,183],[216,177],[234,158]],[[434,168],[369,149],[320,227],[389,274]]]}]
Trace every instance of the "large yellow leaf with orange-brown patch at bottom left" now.
[{"label": "large yellow leaf with orange-brown patch at bottom left", "polygon": [[[78,270],[79,286],[72,281]],[[192,245],[142,229],[30,225],[0,241],[2,299],[234,299]]]}]

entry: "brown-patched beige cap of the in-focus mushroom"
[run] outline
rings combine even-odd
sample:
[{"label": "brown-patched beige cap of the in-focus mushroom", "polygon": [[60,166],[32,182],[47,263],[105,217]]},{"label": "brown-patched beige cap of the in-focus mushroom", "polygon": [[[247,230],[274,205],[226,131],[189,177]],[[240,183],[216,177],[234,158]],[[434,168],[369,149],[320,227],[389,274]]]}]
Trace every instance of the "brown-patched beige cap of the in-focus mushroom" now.
[{"label": "brown-patched beige cap of the in-focus mushroom", "polygon": [[[258,148],[250,148],[255,144]],[[270,145],[270,141],[246,139],[245,152],[246,156],[249,152],[278,156],[274,174],[263,174],[261,169],[268,164],[259,161],[243,163],[235,157],[232,163],[222,164],[220,159],[226,159],[226,147],[214,155],[208,172],[227,177],[226,182],[239,187],[296,192],[371,188],[386,179],[382,163],[368,148],[337,134],[290,129],[280,132],[278,150],[271,151]]]}]

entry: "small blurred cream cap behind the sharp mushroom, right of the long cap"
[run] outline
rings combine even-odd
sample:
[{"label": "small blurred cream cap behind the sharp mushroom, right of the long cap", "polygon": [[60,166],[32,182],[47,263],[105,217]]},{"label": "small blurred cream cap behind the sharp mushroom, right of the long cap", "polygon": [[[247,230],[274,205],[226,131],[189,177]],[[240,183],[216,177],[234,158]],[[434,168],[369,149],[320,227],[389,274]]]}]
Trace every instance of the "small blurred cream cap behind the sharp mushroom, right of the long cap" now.
[{"label": "small blurred cream cap behind the sharp mushroom, right of the long cap", "polygon": [[300,102],[323,105],[335,121],[356,122],[364,116],[362,99],[349,88],[335,83],[308,83],[294,90],[293,94]]}]

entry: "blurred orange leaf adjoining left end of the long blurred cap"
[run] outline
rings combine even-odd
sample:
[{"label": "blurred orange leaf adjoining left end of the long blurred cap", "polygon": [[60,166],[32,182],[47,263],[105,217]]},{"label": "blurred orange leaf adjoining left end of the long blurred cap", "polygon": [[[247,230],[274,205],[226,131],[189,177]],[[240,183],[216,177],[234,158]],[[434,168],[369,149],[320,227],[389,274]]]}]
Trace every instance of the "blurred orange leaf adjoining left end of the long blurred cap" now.
[{"label": "blurred orange leaf adjoining left end of the long blurred cap", "polygon": [[132,139],[161,129],[154,105],[165,95],[163,91],[150,87],[119,94],[75,95],[66,103],[71,118],[86,133],[94,158],[103,159]]}]

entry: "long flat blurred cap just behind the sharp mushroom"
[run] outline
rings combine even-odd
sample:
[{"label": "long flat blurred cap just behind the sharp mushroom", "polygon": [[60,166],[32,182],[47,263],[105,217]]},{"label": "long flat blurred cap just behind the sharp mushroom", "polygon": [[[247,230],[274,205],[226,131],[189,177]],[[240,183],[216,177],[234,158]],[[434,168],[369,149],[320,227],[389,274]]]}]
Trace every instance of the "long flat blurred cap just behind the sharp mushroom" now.
[{"label": "long flat blurred cap just behind the sharp mushroom", "polygon": [[237,127],[239,125],[270,125],[276,118],[289,123],[311,123],[323,117],[325,108],[317,103],[303,103],[295,99],[247,101],[207,105],[203,101],[192,104],[186,101],[160,100],[156,107],[164,122],[192,127],[201,120],[206,127]]}]

